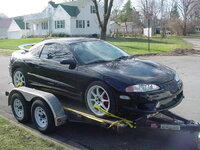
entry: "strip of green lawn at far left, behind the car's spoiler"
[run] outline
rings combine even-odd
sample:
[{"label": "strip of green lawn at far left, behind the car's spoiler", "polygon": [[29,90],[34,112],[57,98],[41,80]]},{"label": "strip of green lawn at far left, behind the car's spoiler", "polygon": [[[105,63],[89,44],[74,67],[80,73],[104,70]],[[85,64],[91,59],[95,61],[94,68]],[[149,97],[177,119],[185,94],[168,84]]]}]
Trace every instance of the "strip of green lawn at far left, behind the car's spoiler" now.
[{"label": "strip of green lawn at far left, behind the car's spoiler", "polygon": [[0,49],[19,49],[18,46],[22,44],[38,43],[42,38],[27,38],[27,39],[7,39],[0,40]]}]

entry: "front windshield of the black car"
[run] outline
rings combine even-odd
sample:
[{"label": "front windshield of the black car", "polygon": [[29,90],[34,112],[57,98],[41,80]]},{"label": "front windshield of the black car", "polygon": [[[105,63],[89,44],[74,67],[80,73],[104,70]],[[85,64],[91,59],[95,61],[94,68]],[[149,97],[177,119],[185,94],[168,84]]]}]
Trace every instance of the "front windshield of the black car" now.
[{"label": "front windshield of the black car", "polygon": [[84,64],[113,61],[129,56],[121,49],[103,41],[90,41],[71,44],[77,59]]}]

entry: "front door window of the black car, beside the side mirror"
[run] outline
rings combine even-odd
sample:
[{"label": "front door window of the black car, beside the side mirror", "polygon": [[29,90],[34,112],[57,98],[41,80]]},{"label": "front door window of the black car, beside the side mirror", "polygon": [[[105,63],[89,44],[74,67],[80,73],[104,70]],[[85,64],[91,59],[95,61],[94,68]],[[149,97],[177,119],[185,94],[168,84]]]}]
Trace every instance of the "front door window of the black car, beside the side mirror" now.
[{"label": "front door window of the black car, beside the side mirror", "polygon": [[60,62],[63,59],[71,57],[71,52],[65,45],[53,43],[44,45],[40,58]]}]

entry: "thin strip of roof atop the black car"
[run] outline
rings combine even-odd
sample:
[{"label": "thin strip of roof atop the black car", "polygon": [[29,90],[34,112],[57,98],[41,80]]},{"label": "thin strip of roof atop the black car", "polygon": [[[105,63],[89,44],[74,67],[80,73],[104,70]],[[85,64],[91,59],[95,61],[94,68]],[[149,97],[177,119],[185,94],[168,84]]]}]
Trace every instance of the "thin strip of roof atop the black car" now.
[{"label": "thin strip of roof atop the black car", "polygon": [[44,40],[43,44],[48,43],[61,43],[61,44],[73,44],[79,42],[89,42],[89,41],[99,41],[99,39],[95,38],[80,38],[80,37],[73,37],[73,38],[58,38],[58,39],[48,39]]}]

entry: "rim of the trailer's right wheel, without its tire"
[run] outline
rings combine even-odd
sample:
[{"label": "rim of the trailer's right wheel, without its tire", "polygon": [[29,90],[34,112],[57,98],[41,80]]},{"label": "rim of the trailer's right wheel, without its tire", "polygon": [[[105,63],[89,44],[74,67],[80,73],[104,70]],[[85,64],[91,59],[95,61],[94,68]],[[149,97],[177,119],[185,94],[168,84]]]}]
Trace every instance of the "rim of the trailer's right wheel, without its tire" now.
[{"label": "rim of the trailer's right wheel, without its tire", "polygon": [[43,108],[36,107],[34,111],[34,117],[39,127],[41,128],[47,127],[48,124],[47,115]]}]

